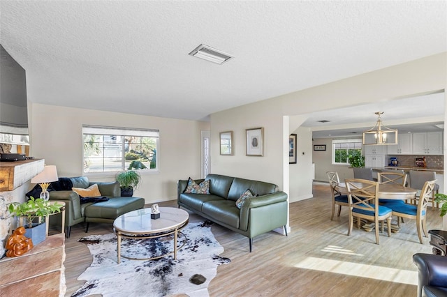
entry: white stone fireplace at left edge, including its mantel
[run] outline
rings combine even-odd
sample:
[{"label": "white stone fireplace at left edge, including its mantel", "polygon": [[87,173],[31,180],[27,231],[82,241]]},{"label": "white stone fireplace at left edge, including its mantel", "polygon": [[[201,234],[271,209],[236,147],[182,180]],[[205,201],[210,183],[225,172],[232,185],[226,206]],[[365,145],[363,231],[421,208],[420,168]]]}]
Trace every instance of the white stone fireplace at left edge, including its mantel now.
[{"label": "white stone fireplace at left edge, including its mantel", "polygon": [[45,160],[0,162],[0,258],[5,254],[5,241],[15,222],[8,212],[11,202],[24,202],[31,178],[43,170]]}]

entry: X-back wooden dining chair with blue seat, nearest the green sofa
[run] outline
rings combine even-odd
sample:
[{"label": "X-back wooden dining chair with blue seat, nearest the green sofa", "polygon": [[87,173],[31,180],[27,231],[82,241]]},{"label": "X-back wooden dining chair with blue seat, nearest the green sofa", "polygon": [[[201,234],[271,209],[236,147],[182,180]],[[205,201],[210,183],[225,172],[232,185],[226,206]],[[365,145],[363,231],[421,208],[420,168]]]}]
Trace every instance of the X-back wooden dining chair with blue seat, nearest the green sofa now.
[{"label": "X-back wooden dining chair with blue seat, nearest the green sofa", "polygon": [[354,217],[357,218],[357,227],[360,229],[360,219],[374,221],[376,231],[376,244],[379,244],[379,222],[386,220],[388,226],[388,237],[391,236],[391,215],[393,211],[379,205],[379,183],[376,181],[368,181],[360,178],[347,178],[345,180],[348,189],[349,203],[349,230],[351,235]]}]

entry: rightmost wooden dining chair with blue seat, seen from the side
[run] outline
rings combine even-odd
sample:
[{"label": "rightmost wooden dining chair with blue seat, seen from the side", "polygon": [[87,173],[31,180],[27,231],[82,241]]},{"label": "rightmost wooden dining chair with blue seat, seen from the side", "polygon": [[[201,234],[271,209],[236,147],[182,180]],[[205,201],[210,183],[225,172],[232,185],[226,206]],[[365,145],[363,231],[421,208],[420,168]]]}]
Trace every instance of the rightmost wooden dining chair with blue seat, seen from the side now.
[{"label": "rightmost wooden dining chair with blue seat, seen from the side", "polygon": [[[428,237],[425,218],[427,215],[427,204],[428,201],[432,198],[432,192],[434,191],[435,185],[436,180],[426,181],[424,183],[422,192],[420,192],[417,206],[412,204],[386,204],[386,207],[391,208],[391,210],[393,210],[393,215],[396,215],[398,218],[409,218],[412,220],[416,220],[416,229],[418,230],[420,243],[423,243],[421,229],[424,232],[424,236]],[[397,220],[397,225],[399,225],[399,220]]]}]

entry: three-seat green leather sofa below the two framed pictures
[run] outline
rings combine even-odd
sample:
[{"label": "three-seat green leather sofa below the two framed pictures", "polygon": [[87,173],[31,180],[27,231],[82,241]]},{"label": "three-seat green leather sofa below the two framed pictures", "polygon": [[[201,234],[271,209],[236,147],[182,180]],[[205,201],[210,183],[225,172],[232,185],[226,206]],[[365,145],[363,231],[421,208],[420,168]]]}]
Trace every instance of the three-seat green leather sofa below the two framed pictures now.
[{"label": "three-seat green leather sofa below the two framed pictures", "polygon": [[[287,194],[278,191],[277,185],[219,174],[208,174],[207,179],[210,195],[184,193],[188,181],[178,181],[178,206],[247,236],[250,252],[253,238],[259,234],[284,227],[287,235]],[[196,180],[196,183],[202,181]],[[256,197],[245,200],[239,209],[235,201],[247,189]]]}]

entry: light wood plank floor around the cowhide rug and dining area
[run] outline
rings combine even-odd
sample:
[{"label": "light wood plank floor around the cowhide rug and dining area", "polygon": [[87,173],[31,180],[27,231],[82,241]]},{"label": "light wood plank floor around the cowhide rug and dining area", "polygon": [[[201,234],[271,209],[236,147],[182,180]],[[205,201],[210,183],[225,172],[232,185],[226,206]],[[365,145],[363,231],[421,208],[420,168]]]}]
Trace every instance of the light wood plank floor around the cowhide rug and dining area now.
[{"label": "light wood plank floor around the cowhide rug and dining area", "polygon": [[[176,201],[159,205],[177,206]],[[351,236],[346,235],[346,208],[333,221],[330,211],[328,184],[315,183],[314,198],[290,205],[291,233],[257,236],[251,253],[248,238],[214,224],[212,232],[225,249],[221,256],[231,263],[217,269],[210,296],[416,296],[412,256],[430,254],[432,248],[428,238],[419,243],[414,220],[405,220],[390,238],[385,231],[376,245],[374,232],[354,227]],[[203,220],[190,215],[190,222]],[[427,229],[441,227],[439,211],[430,208]],[[108,233],[110,224],[90,224],[89,234]],[[66,240],[66,296],[83,284],[77,278],[91,263],[86,245],[77,241],[85,235],[83,224],[78,224]],[[125,289],[117,294],[125,296]]]}]

